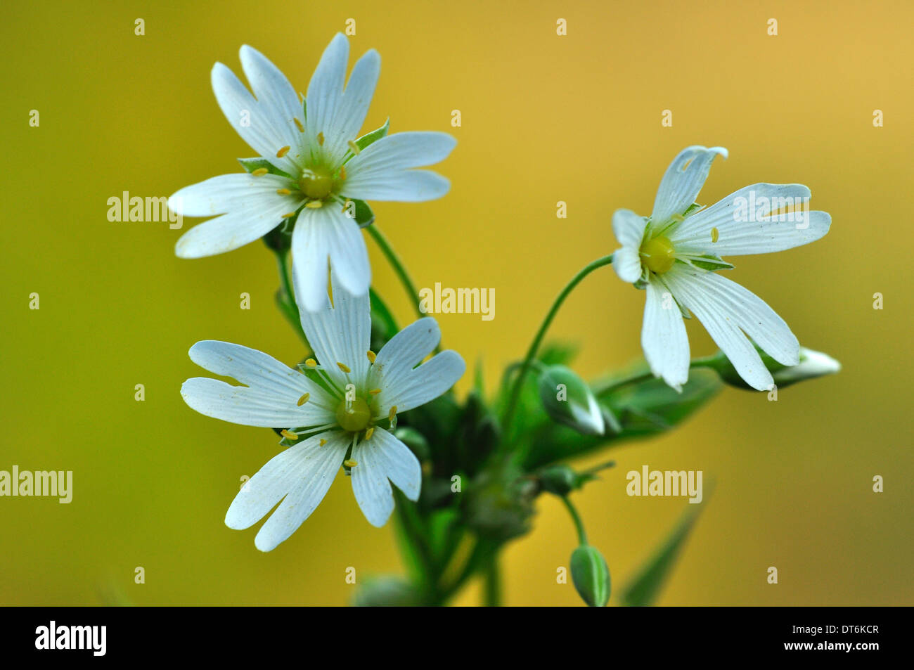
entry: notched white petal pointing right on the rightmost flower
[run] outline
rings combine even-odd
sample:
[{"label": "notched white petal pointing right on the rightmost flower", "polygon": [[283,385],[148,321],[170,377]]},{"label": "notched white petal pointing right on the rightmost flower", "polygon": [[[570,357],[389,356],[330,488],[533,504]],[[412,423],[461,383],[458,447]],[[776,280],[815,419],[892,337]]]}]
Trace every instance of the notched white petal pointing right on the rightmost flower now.
[{"label": "notched white petal pointing right on the rightmost flower", "polygon": [[[786,202],[805,202],[808,207],[809,197],[809,188],[802,184],[746,186],[686,218],[670,239],[677,251],[717,256],[771,253],[809,244],[828,232],[832,218],[827,213],[811,211],[807,218],[801,208],[792,216],[786,214],[759,220],[768,217],[771,211],[783,211]],[[749,211],[749,204],[754,206],[754,211]],[[798,220],[798,215],[802,220]],[[711,238],[712,229],[717,229],[716,242]]]}]

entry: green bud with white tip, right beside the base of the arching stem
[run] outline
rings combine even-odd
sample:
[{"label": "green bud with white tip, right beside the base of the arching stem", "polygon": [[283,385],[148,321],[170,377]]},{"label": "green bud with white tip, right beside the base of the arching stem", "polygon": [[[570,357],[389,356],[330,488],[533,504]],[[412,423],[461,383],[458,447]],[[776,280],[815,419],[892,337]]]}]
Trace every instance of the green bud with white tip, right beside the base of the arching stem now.
[{"label": "green bud with white tip, right beside the base of the arching stem", "polygon": [[553,420],[585,435],[602,435],[605,422],[590,387],[565,366],[545,368],[537,381],[539,399]]}]

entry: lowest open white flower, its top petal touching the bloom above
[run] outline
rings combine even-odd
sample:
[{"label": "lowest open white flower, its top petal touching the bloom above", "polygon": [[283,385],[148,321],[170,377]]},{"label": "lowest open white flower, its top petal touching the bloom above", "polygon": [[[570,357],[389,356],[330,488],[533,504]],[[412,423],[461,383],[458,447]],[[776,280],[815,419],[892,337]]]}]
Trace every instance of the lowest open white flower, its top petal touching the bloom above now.
[{"label": "lowest open white flower, its top petal touching the bloom above", "polygon": [[430,317],[404,328],[375,356],[368,350],[367,294],[353,296],[338,288],[335,274],[333,285],[333,307],[301,310],[305,335],[320,362],[309,359],[302,366],[306,372],[226,342],[197,342],[190,349],[197,365],[245,385],[188,379],[181,395],[191,408],[245,426],[286,427],[284,441],[293,443],[260,468],[228,507],[226,525],[243,529],[282,500],[254,540],[261,551],[275,548],[302,525],[343,464],[373,526],[383,526],[393,511],[390,482],[417,500],[419,460],[380,424],[396,426],[399,412],[438,398],[463,374],[463,359],[450,350],[419,365],[441,339]]}]

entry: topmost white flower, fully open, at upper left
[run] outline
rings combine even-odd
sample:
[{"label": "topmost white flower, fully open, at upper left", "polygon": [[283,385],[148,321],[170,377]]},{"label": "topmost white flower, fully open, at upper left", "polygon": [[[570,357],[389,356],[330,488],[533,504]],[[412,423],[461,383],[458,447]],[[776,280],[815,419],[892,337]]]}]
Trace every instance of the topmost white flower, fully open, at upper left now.
[{"label": "topmost white flower, fully open, at upper left", "polygon": [[219,107],[245,142],[285,175],[262,174],[267,170],[261,168],[179,190],[169,200],[176,213],[222,216],[188,230],[178,239],[175,253],[200,258],[235,250],[283,219],[292,222],[297,217],[292,257],[302,280],[296,290],[305,307],[314,311],[324,306],[328,259],[346,290],[367,292],[371,270],[365,239],[347,201],[442,197],[450,188],[447,179],[411,168],[438,163],[456,141],[446,133],[394,133],[359,150],[356,136],[374,94],[380,57],[374,49],[367,51],[346,84],[349,43],[342,34],[324,51],[304,104],[259,51],[244,46],[240,58],[254,95],[217,63],[212,84]]}]

